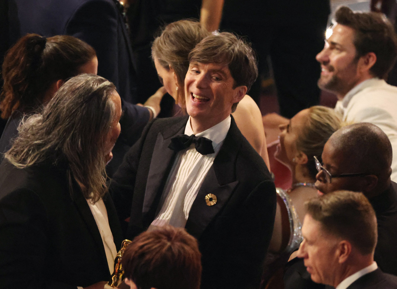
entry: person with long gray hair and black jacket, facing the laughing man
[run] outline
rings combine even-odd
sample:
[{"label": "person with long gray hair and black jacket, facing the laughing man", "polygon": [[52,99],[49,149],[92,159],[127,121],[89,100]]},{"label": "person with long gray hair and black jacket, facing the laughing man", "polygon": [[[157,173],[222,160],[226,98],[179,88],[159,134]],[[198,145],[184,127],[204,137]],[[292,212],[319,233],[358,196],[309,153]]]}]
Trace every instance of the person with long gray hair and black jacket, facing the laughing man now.
[{"label": "person with long gray hair and black jacket, facing the laughing man", "polygon": [[104,288],[121,244],[105,171],[120,117],[116,87],[81,74],[22,121],[0,165],[0,288]]}]

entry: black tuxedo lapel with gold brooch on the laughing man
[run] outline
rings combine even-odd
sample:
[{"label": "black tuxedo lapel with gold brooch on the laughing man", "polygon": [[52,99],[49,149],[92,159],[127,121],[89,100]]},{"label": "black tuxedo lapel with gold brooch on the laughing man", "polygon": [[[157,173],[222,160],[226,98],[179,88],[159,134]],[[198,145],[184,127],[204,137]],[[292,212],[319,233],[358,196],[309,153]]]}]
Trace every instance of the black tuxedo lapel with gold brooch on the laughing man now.
[{"label": "black tuxedo lapel with gold brooch on the laughing man", "polygon": [[[208,224],[222,210],[229,200],[235,187],[236,180],[235,162],[240,142],[236,138],[237,126],[232,118],[230,129],[224,143],[210,167],[198,194],[189,212],[186,230],[189,234],[199,238]],[[208,206],[205,201],[207,194],[214,194],[217,198],[215,205]]]}]

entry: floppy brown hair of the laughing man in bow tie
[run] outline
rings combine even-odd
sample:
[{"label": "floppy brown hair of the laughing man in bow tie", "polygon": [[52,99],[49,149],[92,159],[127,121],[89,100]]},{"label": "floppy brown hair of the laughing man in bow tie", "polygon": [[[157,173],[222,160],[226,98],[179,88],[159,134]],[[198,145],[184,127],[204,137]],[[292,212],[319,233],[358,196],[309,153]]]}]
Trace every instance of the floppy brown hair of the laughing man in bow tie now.
[{"label": "floppy brown hair of the laughing man in bow tie", "polygon": [[[247,86],[258,77],[256,55],[251,45],[232,33],[221,32],[207,36],[189,53],[189,63],[219,63],[227,65],[233,77],[233,89]],[[235,110],[233,105],[232,112]]]}]

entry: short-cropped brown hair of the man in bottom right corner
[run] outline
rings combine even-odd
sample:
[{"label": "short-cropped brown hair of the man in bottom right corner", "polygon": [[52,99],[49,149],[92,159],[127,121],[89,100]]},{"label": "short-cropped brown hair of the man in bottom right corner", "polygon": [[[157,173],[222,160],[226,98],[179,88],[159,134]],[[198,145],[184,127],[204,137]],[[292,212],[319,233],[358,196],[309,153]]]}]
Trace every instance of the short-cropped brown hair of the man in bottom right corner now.
[{"label": "short-cropped brown hair of the man in bottom right corner", "polygon": [[322,224],[322,230],[348,240],[362,255],[375,250],[378,228],[375,211],[362,194],[335,191],[306,202],[307,214]]}]

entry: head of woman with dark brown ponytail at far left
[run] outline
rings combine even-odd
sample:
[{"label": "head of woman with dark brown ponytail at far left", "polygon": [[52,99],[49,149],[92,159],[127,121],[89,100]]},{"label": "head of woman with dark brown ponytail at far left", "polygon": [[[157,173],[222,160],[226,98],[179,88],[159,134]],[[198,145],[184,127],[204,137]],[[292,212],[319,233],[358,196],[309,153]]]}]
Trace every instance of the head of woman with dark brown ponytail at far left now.
[{"label": "head of woman with dark brown ponytail at far left", "polygon": [[8,122],[0,139],[0,153],[11,147],[23,115],[48,103],[68,78],[96,74],[97,70],[95,50],[73,36],[27,34],[19,39],[6,54],[2,67],[0,110]]}]

